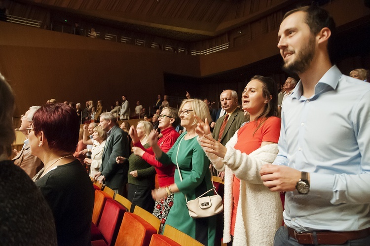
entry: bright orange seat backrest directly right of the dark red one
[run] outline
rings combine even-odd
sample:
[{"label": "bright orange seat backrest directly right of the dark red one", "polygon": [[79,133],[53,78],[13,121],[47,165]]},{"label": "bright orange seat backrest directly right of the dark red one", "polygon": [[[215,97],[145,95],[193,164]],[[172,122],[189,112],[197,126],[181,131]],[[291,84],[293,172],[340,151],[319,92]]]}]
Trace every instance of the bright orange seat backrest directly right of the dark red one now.
[{"label": "bright orange seat backrest directly right of the dark red one", "polygon": [[116,246],[149,246],[157,230],[139,215],[125,212],[119,228]]}]

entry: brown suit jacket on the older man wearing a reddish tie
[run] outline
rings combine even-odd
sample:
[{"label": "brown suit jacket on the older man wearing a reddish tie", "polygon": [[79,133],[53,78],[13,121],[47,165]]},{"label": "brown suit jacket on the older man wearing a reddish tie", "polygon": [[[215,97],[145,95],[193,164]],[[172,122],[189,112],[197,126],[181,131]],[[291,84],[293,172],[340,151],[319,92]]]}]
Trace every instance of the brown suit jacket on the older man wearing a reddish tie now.
[{"label": "brown suit jacket on the older man wearing a reddish tie", "polygon": [[[244,117],[244,112],[239,108],[235,109],[234,112],[232,112],[232,114],[229,117],[229,120],[226,123],[225,130],[223,131],[223,134],[221,136],[221,143],[223,146],[226,145],[226,143],[234,135],[235,131],[237,131],[240,128],[242,123],[249,121],[249,115],[247,116],[247,118],[248,119]],[[219,139],[223,119],[225,119],[225,115],[217,120],[215,128],[213,129],[212,137],[216,140]]]}]

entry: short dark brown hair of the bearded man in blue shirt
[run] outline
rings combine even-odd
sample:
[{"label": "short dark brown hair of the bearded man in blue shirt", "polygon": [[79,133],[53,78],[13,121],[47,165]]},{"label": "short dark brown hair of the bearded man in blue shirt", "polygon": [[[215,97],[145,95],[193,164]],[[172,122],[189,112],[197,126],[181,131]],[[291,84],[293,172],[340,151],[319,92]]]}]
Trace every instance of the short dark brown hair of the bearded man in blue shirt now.
[{"label": "short dark brown hair of the bearded man in blue shirt", "polygon": [[309,26],[311,33],[313,35],[318,34],[321,31],[321,29],[323,29],[324,27],[327,27],[330,29],[330,31],[332,32],[332,35],[330,36],[328,40],[328,52],[329,52],[329,55],[331,56],[333,53],[333,40],[334,40],[334,35],[335,35],[335,22],[334,22],[333,17],[325,9],[312,5],[312,6],[298,7],[298,8],[288,11],[284,15],[283,20],[285,20],[289,15],[296,13],[298,11],[302,11],[306,13],[306,16],[304,18],[305,23]]}]

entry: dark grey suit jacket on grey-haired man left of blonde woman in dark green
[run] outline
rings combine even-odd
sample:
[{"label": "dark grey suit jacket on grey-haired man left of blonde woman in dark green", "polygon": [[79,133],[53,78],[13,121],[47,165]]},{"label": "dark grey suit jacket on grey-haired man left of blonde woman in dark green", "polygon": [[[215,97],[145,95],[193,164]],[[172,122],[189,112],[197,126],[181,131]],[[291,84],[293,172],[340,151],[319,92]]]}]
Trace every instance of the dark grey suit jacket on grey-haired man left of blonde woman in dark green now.
[{"label": "dark grey suit jacket on grey-haired man left of blonde woman in dark green", "polygon": [[128,164],[117,164],[117,156],[129,158],[128,139],[123,130],[114,125],[104,147],[99,171],[106,177],[106,185],[118,189],[127,183]]}]

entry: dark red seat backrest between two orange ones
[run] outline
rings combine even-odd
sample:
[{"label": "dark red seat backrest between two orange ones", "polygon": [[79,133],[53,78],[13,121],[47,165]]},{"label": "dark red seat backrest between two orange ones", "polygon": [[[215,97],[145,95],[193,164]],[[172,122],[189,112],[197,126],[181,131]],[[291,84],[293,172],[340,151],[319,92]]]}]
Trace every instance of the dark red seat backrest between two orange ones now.
[{"label": "dark red seat backrest between two orange ones", "polygon": [[106,201],[98,228],[109,246],[115,243],[125,211],[126,208],[117,201],[112,199]]}]

